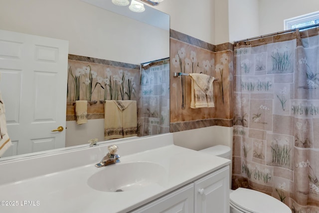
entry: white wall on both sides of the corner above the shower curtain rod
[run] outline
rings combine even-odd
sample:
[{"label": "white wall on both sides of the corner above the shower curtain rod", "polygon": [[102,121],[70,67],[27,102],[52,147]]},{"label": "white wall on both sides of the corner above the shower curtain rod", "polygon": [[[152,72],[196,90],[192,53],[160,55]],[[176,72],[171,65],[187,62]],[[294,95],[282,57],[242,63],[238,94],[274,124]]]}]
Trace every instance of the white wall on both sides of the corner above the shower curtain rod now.
[{"label": "white wall on both sides of the corner above the shower curtain rod", "polygon": [[285,19],[319,10],[318,0],[228,1],[229,42],[283,31]]}]

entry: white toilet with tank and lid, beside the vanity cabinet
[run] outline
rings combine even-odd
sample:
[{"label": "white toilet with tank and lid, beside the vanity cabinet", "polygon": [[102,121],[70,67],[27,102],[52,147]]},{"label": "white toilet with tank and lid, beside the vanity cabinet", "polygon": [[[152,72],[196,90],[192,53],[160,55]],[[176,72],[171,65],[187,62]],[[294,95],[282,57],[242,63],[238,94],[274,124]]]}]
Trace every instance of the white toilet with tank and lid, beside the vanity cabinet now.
[{"label": "white toilet with tank and lid, beside the vanity cabinet", "polygon": [[[224,145],[209,147],[199,152],[232,160],[230,147]],[[230,213],[292,213],[290,208],[279,200],[265,193],[245,188],[230,190],[229,203]]]}]

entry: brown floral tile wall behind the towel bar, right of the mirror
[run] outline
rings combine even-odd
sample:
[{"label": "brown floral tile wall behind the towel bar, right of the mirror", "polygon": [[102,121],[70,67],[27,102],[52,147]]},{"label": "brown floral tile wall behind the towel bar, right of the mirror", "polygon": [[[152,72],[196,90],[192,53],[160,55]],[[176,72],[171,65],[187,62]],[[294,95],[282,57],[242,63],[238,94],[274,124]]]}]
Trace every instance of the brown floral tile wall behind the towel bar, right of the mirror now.
[{"label": "brown floral tile wall behind the towel bar, right of the mirror", "polygon": [[[190,77],[173,77],[173,72],[204,73],[218,78],[213,82],[215,107],[190,108]],[[232,126],[233,87],[232,44],[213,45],[170,30],[170,132]]]}]

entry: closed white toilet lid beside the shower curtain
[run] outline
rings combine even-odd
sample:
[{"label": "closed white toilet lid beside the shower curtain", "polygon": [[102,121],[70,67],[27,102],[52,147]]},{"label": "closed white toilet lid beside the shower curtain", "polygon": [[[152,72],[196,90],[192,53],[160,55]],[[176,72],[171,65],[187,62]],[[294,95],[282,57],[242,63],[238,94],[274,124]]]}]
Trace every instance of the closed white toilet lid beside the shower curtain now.
[{"label": "closed white toilet lid beside the shower curtain", "polygon": [[279,200],[255,190],[238,188],[230,193],[230,203],[247,213],[291,213]]}]

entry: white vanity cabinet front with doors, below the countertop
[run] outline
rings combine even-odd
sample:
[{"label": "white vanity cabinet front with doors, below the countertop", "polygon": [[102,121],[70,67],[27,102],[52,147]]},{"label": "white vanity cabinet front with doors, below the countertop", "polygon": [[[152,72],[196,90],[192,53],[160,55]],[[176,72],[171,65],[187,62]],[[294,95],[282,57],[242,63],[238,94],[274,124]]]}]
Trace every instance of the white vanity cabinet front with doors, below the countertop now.
[{"label": "white vanity cabinet front with doors, below the countertop", "polygon": [[131,213],[229,213],[229,167],[223,167]]}]

